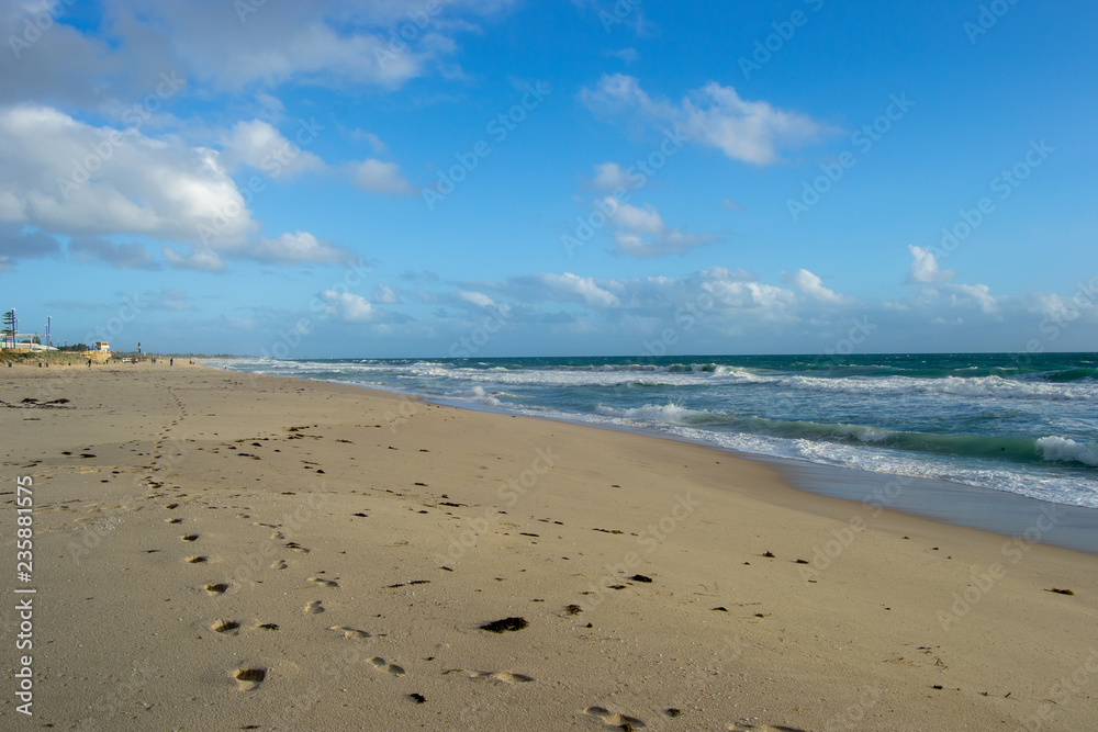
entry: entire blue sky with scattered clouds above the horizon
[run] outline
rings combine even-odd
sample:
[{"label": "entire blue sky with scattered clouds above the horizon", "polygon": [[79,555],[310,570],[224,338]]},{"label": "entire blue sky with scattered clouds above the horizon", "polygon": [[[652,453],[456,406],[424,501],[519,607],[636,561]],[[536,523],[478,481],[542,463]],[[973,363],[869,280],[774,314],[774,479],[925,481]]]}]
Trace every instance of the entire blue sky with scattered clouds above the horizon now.
[{"label": "entire blue sky with scattered clouds above the horizon", "polygon": [[1098,350],[1090,2],[0,8],[0,307],[58,342]]}]

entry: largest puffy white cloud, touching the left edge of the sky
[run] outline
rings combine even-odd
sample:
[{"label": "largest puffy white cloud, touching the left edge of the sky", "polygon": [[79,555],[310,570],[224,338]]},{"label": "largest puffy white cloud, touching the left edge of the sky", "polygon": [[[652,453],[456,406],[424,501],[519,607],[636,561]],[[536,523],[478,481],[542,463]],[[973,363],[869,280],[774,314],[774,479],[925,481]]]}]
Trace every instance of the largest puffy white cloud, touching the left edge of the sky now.
[{"label": "largest puffy white cloud, touching the left edge of the sky", "polygon": [[[0,110],[0,221],[71,236],[175,241],[223,218],[219,237],[256,228],[212,150],[137,129],[92,127],[45,106]],[[238,212],[223,217],[226,209]]]}]

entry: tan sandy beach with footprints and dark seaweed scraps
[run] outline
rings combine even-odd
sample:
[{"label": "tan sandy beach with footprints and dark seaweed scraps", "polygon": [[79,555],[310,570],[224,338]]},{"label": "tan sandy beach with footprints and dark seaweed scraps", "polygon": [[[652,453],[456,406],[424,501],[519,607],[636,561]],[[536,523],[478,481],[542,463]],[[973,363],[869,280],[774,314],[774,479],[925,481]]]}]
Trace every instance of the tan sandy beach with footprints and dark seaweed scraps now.
[{"label": "tan sandy beach with footprints and dark seaweed scraps", "polygon": [[1098,556],[1033,542],[1054,507],[998,536],[179,361],[3,369],[0,401],[7,730],[1098,724]]}]

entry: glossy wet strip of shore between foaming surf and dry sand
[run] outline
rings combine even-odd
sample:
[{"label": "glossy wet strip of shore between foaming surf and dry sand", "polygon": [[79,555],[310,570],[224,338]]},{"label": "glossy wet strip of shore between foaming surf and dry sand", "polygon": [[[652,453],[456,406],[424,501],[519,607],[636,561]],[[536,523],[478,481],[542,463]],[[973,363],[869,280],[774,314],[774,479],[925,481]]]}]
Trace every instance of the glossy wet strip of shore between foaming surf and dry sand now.
[{"label": "glossy wet strip of shore between foaming surf and dry sand", "polygon": [[[217,367],[206,365],[205,368],[227,371]],[[301,376],[279,378],[296,379],[300,381],[322,381]],[[863,508],[887,508],[909,516],[929,519],[938,523],[987,531],[1006,539],[1018,537],[1029,539],[1035,537],[1035,540],[1040,543],[1098,555],[1098,508],[1058,504],[1009,491],[995,491],[993,488],[939,478],[906,476],[894,473],[874,473],[856,468],[741,452],[701,440],[691,440],[661,432],[657,429],[630,428],[613,424],[591,423],[582,419],[568,419],[565,417],[558,418],[518,414],[502,407],[437,398],[429,394],[390,391],[356,382],[326,381],[324,383],[365,388],[379,394],[397,395],[404,398],[422,399],[428,404],[437,404],[455,409],[507,416],[516,415],[550,423],[578,425],[593,429],[605,429],[615,432],[671,440],[683,444],[695,444],[717,453],[732,455],[740,460],[774,465],[785,477],[786,484],[796,491],[850,502],[855,505],[862,505]]]}]

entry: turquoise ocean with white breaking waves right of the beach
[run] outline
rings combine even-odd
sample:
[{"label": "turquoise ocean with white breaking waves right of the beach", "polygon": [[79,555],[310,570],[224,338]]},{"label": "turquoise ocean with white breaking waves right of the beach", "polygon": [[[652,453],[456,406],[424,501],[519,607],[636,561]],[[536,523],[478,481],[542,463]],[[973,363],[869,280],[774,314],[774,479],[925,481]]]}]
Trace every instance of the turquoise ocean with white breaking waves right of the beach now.
[{"label": "turquoise ocean with white breaking waves right of the beach", "polygon": [[1098,353],[234,359],[214,365],[1098,508]]}]

